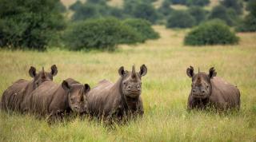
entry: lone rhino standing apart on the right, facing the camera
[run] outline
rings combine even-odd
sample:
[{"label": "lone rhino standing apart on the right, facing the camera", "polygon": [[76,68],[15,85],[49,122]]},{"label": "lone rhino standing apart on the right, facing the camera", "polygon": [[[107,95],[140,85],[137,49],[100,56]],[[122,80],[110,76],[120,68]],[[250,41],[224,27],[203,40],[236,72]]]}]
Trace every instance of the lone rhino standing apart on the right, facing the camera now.
[{"label": "lone rhino standing apart on the right, facing the camera", "polygon": [[194,74],[194,68],[190,66],[186,69],[186,74],[192,78],[192,89],[187,103],[189,109],[206,106],[214,106],[218,110],[240,108],[238,88],[220,77],[215,77],[217,73],[214,68],[210,68],[208,74],[199,71]]}]

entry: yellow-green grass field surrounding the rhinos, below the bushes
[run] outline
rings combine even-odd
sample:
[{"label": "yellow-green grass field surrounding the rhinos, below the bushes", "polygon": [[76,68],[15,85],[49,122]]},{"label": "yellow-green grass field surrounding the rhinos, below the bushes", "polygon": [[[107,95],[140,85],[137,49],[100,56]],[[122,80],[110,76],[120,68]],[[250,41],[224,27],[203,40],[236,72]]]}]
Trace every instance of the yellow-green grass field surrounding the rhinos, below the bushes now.
[{"label": "yellow-green grass field surrounding the rhinos, below the bushes", "polygon": [[[256,140],[256,34],[238,34],[239,45],[186,47],[186,30],[166,30],[156,41],[121,45],[117,52],[48,52],[0,50],[0,94],[19,78],[30,80],[28,69],[58,66],[55,82],[67,77],[91,87],[106,78],[118,80],[118,68],[137,69],[147,65],[142,78],[145,115],[129,124],[107,128],[88,119],[74,119],[48,125],[45,120],[18,113],[0,112],[0,141],[255,141]],[[226,115],[214,112],[186,112],[190,78],[186,68],[193,65],[207,71],[214,66],[218,77],[238,85],[241,111]],[[1,95],[0,95],[1,96]]]}]

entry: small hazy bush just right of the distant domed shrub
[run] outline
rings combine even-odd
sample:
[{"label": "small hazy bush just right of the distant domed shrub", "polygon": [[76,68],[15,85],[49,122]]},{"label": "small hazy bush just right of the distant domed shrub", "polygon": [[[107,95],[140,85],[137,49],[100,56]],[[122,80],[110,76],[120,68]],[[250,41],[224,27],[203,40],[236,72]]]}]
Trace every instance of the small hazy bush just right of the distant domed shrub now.
[{"label": "small hazy bush just right of the distant domed shrub", "polygon": [[196,25],[206,20],[207,11],[200,6],[191,6],[189,13],[195,18]]}]

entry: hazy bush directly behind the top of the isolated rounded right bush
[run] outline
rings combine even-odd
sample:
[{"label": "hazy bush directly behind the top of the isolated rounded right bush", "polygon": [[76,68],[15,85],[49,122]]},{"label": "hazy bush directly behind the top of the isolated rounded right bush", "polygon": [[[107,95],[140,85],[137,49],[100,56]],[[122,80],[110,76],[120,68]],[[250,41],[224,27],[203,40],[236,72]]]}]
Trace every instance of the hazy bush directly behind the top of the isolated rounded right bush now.
[{"label": "hazy bush directly behind the top of the isolated rounded right bush", "polygon": [[221,19],[228,26],[234,26],[238,22],[238,16],[233,9],[226,9],[224,6],[215,6],[211,11],[209,19]]}]

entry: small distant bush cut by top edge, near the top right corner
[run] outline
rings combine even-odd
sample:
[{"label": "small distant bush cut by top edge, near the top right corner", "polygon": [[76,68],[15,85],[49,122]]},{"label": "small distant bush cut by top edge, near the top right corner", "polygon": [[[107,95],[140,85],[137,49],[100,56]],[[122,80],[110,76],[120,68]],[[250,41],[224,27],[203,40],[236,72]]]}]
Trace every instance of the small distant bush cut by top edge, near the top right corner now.
[{"label": "small distant bush cut by top edge, near the top right corner", "polygon": [[235,10],[237,14],[242,14],[242,2],[240,0],[223,0],[222,6]]}]

